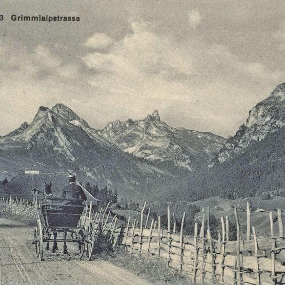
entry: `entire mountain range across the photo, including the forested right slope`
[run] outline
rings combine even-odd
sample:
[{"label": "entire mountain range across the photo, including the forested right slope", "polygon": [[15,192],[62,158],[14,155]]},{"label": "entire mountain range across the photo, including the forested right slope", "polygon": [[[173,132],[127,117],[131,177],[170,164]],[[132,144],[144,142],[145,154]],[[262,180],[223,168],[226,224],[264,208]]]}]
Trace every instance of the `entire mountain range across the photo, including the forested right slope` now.
[{"label": "entire mountain range across the photo, including the forested right slope", "polygon": [[[135,201],[253,196],[285,188],[284,141],[285,83],[253,107],[228,140],[170,127],[158,111],[96,130],[63,104],[39,107],[30,125],[0,137],[1,175],[10,175],[3,191],[23,194],[44,179],[59,191],[72,172]],[[24,175],[25,169],[40,170],[42,179]]]}]

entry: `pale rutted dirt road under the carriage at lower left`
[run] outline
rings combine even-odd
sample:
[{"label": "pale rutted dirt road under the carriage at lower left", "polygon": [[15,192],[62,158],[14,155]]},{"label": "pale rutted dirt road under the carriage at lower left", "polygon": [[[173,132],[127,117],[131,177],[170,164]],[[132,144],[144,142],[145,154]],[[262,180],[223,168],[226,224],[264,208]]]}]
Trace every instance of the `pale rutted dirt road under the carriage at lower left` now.
[{"label": "pale rutted dirt road under the carriage at lower left", "polygon": [[107,261],[80,260],[69,254],[44,250],[39,261],[32,245],[33,227],[0,218],[0,284],[150,284]]}]

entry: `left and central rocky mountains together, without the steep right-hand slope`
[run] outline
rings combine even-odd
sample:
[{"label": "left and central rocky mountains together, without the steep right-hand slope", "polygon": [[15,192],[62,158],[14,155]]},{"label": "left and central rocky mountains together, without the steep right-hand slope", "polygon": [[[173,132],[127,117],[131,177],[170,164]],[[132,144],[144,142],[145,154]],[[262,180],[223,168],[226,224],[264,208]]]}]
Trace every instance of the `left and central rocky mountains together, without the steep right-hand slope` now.
[{"label": "left and central rocky mountains together, without the steep right-hand slope", "polygon": [[[171,128],[160,121],[158,112],[155,114],[132,121],[129,129],[127,122],[121,123],[125,126],[124,141],[129,144],[124,149],[123,132],[120,144],[115,139],[119,136],[118,131],[114,132],[119,129],[115,128],[118,123],[95,130],[63,104],[51,109],[41,106],[30,125],[25,122],[0,138],[0,161],[5,170],[2,175],[15,176],[4,188],[11,189],[14,183],[18,193],[27,191],[17,179],[28,176],[17,174],[39,169],[42,175],[54,173],[57,177],[75,173],[79,179],[99,187],[117,188],[119,195],[150,197],[152,193],[163,192],[170,181],[187,176],[189,170],[207,166],[214,151],[222,146],[224,139],[219,136]],[[133,134],[133,140],[128,140]],[[179,136],[184,139],[182,143]],[[140,152],[129,150],[139,149],[138,144]]]}]

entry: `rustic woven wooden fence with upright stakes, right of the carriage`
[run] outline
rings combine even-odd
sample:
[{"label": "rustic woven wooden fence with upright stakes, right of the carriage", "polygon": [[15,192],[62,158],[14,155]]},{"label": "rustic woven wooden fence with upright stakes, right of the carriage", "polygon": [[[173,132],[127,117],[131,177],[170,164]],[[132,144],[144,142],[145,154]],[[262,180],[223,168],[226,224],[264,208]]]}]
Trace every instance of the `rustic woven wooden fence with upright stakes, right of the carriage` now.
[{"label": "rustic woven wooden fence with upright stakes, right of the carriage", "polygon": [[[229,240],[229,218],[221,217],[218,240],[212,238],[207,213],[202,211],[201,228],[195,221],[194,236],[184,234],[185,213],[181,229],[171,229],[171,214],[168,225],[162,229],[160,217],[155,221],[144,218],[140,221],[128,219],[126,225],[118,225],[116,216],[107,208],[89,213],[90,219],[100,223],[103,233],[108,235],[114,246],[124,246],[131,254],[142,254],[165,259],[169,267],[187,274],[193,282],[215,284],[285,284],[285,240],[281,210],[278,210],[278,233],[274,233],[272,212],[269,213],[271,238],[260,238],[251,227],[250,209],[247,209],[247,236],[241,239],[238,211],[235,208],[236,236]],[[87,214],[88,215],[88,214]],[[206,232],[206,236],[204,235]]]}]

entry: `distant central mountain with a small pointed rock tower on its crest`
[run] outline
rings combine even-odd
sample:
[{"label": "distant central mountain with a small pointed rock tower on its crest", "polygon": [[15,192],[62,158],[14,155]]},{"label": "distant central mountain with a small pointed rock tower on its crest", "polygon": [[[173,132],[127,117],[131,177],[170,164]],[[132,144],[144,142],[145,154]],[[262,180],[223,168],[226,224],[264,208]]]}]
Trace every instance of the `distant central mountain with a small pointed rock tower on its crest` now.
[{"label": "distant central mountain with a small pointed rock tower on its crest", "polygon": [[171,161],[190,171],[209,165],[226,142],[212,133],[172,128],[160,120],[157,110],[142,120],[116,120],[98,134],[137,157],[156,164]]}]

